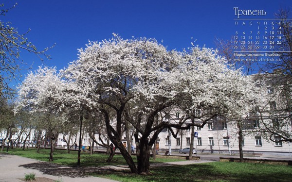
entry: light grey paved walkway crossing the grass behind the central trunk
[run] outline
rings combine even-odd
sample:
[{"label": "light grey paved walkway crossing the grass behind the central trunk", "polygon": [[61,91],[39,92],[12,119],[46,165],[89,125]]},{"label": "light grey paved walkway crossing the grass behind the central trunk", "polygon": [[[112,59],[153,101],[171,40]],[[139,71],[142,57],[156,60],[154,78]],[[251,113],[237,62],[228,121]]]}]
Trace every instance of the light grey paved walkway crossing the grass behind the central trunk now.
[{"label": "light grey paved walkway crossing the grass behind the central trunk", "polygon": [[[181,161],[170,163],[156,163],[154,166],[165,165],[189,165],[212,162],[208,160],[198,161]],[[119,170],[128,169],[128,166],[84,166],[84,167],[70,167],[64,165],[56,165],[49,162],[42,162],[35,159],[20,157],[17,155],[10,155],[0,153],[0,182],[22,182],[19,178],[24,178],[25,173],[33,172],[36,177],[45,177],[52,180],[62,180],[62,182],[116,182],[104,178],[92,177],[87,174],[90,172],[104,171],[104,170]]]}]

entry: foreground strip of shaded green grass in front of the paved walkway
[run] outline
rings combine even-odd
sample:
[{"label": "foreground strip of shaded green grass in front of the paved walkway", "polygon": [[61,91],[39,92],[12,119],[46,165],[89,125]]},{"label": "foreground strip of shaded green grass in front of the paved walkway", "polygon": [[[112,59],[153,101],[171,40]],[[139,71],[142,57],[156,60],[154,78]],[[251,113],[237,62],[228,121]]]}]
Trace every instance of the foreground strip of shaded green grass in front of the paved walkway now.
[{"label": "foreground strip of shaded green grass in front of the paved walkway", "polygon": [[292,166],[234,162],[152,167],[151,175],[127,172],[92,176],[121,182],[292,182]]}]

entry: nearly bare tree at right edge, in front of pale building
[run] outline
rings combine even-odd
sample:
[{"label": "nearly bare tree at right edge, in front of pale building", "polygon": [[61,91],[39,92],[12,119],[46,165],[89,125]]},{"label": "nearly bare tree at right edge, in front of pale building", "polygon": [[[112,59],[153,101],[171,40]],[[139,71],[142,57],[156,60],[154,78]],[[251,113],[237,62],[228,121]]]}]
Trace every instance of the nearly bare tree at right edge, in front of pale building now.
[{"label": "nearly bare tree at right edge, in front of pale building", "polygon": [[[267,85],[266,103],[260,109],[264,126],[261,133],[273,142],[292,142],[292,20],[290,9],[280,9],[277,31],[282,33],[281,44],[274,46],[279,61],[269,62],[263,68],[265,75],[258,78]],[[274,101],[274,102],[273,102]],[[274,105],[275,103],[275,105]],[[267,112],[269,119],[266,119]]]}]

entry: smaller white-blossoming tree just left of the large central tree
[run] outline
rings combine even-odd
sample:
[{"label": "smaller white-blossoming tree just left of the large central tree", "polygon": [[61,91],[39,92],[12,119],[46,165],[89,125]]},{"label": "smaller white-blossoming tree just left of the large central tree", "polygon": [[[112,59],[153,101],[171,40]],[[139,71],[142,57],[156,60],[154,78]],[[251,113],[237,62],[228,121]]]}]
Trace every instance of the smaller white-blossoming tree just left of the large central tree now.
[{"label": "smaller white-blossoming tree just left of the large central tree", "polygon": [[51,152],[49,161],[53,161],[55,138],[59,134],[62,123],[59,105],[54,98],[60,95],[63,82],[60,80],[55,68],[39,68],[35,73],[27,75],[19,86],[18,101],[15,112],[29,108],[32,114],[41,113],[46,120],[46,131],[49,134]]}]

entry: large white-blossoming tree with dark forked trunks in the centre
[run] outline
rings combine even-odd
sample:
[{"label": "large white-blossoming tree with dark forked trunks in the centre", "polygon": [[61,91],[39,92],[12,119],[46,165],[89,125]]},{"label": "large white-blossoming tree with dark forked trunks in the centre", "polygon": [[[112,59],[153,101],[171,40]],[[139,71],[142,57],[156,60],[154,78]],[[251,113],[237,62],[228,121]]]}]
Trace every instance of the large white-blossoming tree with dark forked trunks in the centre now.
[{"label": "large white-blossoming tree with dark forked trunks in the centre", "polygon": [[[155,39],[122,39],[114,36],[90,42],[79,50],[79,59],[63,71],[68,84],[78,83],[86,108],[99,111],[111,142],[121,151],[133,173],[149,173],[150,149],[158,134],[169,128],[204,126],[215,116],[247,113],[255,100],[252,81],[226,65],[216,51],[193,47],[168,51]],[[65,97],[78,102],[72,97]],[[71,101],[71,102],[72,102]],[[85,102],[84,102],[85,103]],[[178,122],[158,122],[170,107],[183,108]],[[195,116],[193,111],[202,114]],[[201,124],[187,124],[195,117]],[[115,126],[110,120],[115,119]],[[122,126],[135,129],[138,166],[122,143]],[[155,122],[154,122],[155,121]]]}]

